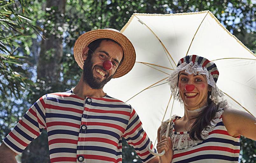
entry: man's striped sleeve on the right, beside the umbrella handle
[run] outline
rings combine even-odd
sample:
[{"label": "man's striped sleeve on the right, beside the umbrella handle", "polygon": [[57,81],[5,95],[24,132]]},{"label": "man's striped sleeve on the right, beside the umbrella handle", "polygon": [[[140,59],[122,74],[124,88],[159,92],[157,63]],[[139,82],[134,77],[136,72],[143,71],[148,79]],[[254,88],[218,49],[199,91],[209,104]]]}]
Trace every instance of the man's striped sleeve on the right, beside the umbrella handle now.
[{"label": "man's striped sleeve on the right, beside the umbrella handle", "polygon": [[[148,162],[156,157],[150,154],[147,149],[150,140],[143,130],[142,122],[133,107],[131,107],[130,119],[123,137],[126,139],[127,143],[134,148],[142,162]],[[153,145],[151,145],[151,149],[152,148],[154,149]]]}]

